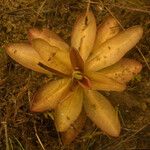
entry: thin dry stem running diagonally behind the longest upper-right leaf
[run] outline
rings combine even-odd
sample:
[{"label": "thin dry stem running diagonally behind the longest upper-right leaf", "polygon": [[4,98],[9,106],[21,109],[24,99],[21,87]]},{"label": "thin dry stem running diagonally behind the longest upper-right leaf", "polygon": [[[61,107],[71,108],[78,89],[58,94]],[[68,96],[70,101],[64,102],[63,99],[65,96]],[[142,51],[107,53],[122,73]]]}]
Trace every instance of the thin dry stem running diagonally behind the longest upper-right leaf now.
[{"label": "thin dry stem running diagonally behind the longest upper-right leaf", "polygon": [[[100,1],[100,2],[102,3],[102,1]],[[103,4],[103,3],[102,3],[102,4]],[[123,25],[122,25],[122,24],[120,23],[120,21],[115,17],[115,15],[113,14],[113,12],[111,12],[111,10],[110,10],[107,6],[105,6],[104,4],[103,4],[103,6],[104,6],[104,7],[106,8],[106,10],[110,13],[110,15],[111,15],[112,17],[114,17],[114,18],[117,20],[117,22],[118,22],[118,24],[120,25],[120,27],[121,27],[123,30],[125,30],[124,27],[123,27]],[[136,46],[136,48],[137,48],[138,52],[140,53],[140,55],[142,56],[142,58],[143,58],[143,60],[144,60],[144,62],[145,62],[145,64],[146,64],[147,68],[150,70],[150,66],[149,66],[149,64],[148,64],[148,62],[147,62],[145,56],[144,56],[143,53],[141,52],[141,49],[140,49],[138,46]]]}]

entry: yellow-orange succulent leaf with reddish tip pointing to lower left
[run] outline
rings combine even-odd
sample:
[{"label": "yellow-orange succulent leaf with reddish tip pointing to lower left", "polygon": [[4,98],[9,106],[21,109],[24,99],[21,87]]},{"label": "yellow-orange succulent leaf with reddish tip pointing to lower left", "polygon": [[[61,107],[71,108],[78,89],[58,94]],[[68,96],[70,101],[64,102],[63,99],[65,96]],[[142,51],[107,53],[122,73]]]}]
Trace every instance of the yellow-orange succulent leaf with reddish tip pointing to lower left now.
[{"label": "yellow-orange succulent leaf with reddish tip pointing to lower left", "polygon": [[33,96],[30,110],[43,112],[56,108],[59,102],[70,92],[70,80],[68,78],[51,81],[42,86]]}]

